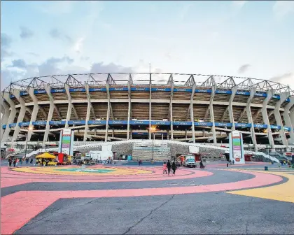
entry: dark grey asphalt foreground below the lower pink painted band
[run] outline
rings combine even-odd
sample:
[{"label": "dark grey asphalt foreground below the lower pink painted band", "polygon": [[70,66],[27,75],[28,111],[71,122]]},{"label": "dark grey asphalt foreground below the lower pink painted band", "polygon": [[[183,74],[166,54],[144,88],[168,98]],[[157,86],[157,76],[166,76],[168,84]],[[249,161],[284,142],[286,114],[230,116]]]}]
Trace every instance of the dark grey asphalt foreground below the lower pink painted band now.
[{"label": "dark grey asphalt foreground below the lower pink painted band", "polygon": [[293,234],[293,204],[225,192],[59,199],[15,234]]}]

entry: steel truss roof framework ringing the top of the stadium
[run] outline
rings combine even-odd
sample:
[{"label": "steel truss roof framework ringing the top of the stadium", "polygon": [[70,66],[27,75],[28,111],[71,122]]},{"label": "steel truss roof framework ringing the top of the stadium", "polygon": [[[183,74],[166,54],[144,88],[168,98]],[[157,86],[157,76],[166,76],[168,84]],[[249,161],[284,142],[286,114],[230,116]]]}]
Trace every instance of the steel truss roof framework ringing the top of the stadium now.
[{"label": "steel truss roof framework ringing the top of the stadium", "polygon": [[218,89],[250,90],[255,87],[257,91],[267,92],[275,90],[276,94],[290,92],[294,96],[294,91],[288,85],[283,85],[271,80],[258,78],[244,78],[236,76],[218,76],[207,74],[187,74],[187,73],[73,73],[60,74],[54,76],[41,76],[25,78],[10,83],[3,92],[10,92],[11,89],[27,90],[27,87],[43,89],[46,84],[51,87],[64,87],[64,85],[80,87],[86,83],[89,85],[120,85],[130,82],[131,85],[158,84],[158,85],[179,85],[197,87],[213,87]]}]

